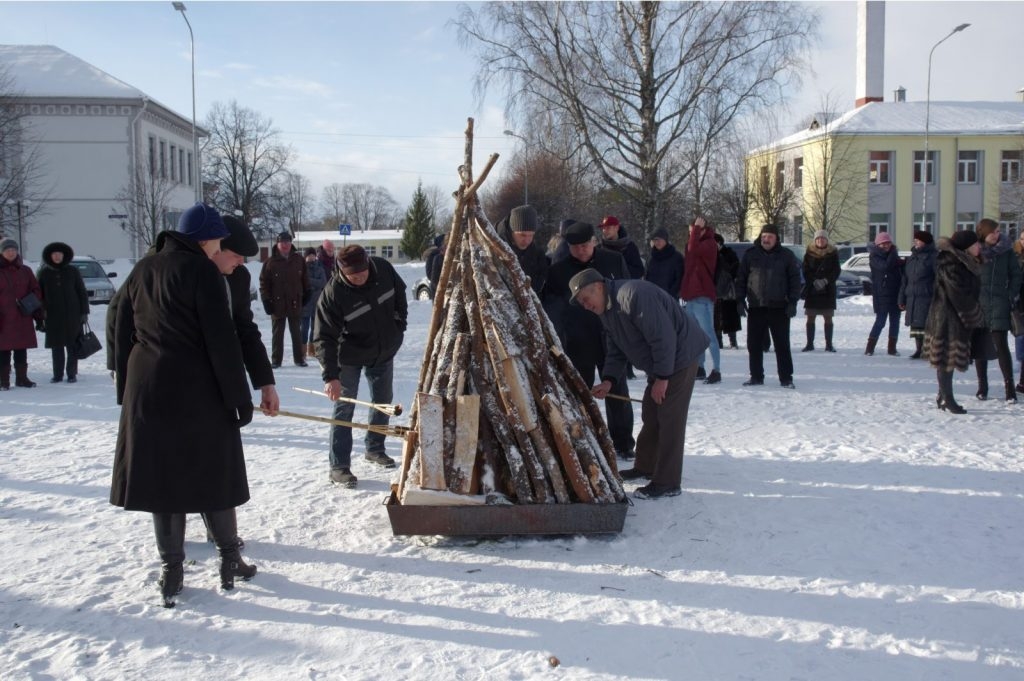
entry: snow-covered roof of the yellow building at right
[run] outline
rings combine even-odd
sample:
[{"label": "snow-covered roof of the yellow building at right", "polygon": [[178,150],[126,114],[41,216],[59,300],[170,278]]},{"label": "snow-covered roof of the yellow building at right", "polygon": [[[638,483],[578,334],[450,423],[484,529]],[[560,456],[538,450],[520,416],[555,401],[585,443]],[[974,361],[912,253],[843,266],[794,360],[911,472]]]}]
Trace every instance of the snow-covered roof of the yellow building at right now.
[{"label": "snow-covered roof of the yellow building at right", "polygon": [[[831,123],[833,135],[919,135],[925,132],[927,102],[872,101],[849,111]],[[814,139],[825,128],[801,130],[753,152],[794,146]],[[1024,101],[933,101],[928,112],[929,135],[1024,134]]]}]

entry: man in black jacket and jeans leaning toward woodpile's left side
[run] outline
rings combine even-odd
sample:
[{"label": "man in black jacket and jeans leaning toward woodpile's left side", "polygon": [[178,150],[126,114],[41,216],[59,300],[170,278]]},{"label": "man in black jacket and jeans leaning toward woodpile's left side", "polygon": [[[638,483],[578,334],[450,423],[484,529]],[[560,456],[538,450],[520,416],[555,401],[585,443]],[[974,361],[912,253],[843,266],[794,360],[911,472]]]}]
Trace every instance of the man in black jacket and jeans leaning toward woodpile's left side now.
[{"label": "man in black jacket and jeans leaning toward woodpile's left side", "polygon": [[[338,251],[338,266],[316,303],[313,346],[324,378],[324,393],[335,400],[334,418],[351,422],[355,406],[338,397],[358,396],[359,375],[366,374],[370,399],[393,399],[394,355],[401,347],[409,315],[406,283],[384,258],[367,255],[352,244]],[[386,426],[388,416],[370,410],[370,424]],[[367,431],[364,459],[393,468],[384,451],[384,435]],[[331,426],[332,482],[354,487],[352,429]]]}]

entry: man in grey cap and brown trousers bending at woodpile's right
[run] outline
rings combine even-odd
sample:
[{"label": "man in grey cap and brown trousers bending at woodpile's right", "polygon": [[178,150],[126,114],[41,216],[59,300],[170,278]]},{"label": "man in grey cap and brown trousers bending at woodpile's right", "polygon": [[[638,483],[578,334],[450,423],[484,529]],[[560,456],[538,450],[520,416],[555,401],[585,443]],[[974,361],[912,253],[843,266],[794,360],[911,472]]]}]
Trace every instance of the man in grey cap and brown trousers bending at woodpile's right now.
[{"label": "man in grey cap and brown trousers bending at woodpile's right", "polygon": [[636,463],[620,475],[650,478],[634,493],[640,499],[677,496],[697,357],[708,347],[708,336],[675,298],[650,282],[610,281],[585,269],[572,278],[569,293],[573,303],[598,316],[605,332],[607,353],[594,396],[611,392],[627,360],[647,374]]}]

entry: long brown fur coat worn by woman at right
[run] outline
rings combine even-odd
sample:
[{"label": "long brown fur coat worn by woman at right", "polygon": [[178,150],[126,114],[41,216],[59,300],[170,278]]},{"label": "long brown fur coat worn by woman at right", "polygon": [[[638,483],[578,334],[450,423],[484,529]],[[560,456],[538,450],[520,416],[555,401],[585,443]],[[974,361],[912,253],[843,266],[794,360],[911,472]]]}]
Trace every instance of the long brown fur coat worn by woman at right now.
[{"label": "long brown fur coat worn by woman at right", "polygon": [[936,242],[935,290],[925,323],[924,355],[936,369],[967,371],[971,336],[985,325],[978,296],[981,264],[945,237]]}]

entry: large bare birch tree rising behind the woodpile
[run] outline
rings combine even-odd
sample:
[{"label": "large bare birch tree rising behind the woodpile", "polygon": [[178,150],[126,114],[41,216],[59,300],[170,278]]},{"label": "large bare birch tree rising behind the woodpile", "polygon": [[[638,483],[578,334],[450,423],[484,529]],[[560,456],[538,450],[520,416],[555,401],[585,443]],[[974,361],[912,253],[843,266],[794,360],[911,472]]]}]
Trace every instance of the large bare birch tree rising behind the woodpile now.
[{"label": "large bare birch tree rising behind the woodpile", "polygon": [[481,91],[509,90],[510,117],[543,108],[571,124],[593,168],[634,205],[643,237],[737,115],[770,107],[803,68],[817,24],[798,3],[523,2],[463,6]]}]

